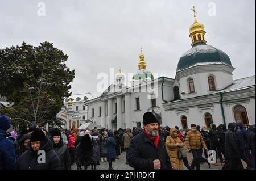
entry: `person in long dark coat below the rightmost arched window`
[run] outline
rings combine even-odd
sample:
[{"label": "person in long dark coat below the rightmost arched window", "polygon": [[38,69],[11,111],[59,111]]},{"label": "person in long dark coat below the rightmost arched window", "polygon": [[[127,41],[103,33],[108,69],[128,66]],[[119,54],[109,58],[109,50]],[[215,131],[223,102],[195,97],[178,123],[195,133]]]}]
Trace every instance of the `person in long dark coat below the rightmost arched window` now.
[{"label": "person in long dark coat below the rightmost arched window", "polygon": [[226,161],[222,170],[243,170],[237,140],[234,132],[237,124],[229,123],[228,131],[225,132],[225,154]]}]

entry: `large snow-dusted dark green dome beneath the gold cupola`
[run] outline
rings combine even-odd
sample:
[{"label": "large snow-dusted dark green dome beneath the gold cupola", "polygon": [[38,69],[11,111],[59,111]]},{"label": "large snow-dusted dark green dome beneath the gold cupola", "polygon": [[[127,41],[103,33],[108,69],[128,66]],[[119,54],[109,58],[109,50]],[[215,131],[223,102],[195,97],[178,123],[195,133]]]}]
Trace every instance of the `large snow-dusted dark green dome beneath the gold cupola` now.
[{"label": "large snow-dusted dark green dome beneath the gold cupola", "polygon": [[197,43],[180,57],[177,71],[187,69],[194,65],[215,63],[224,63],[232,66],[230,58],[226,53],[211,45]]}]

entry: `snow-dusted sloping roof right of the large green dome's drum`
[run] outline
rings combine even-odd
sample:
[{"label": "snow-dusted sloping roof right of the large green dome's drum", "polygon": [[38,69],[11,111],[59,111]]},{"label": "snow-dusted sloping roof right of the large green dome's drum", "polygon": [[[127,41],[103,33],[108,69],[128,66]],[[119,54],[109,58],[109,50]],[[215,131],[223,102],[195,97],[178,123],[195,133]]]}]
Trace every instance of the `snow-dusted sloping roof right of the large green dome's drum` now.
[{"label": "snow-dusted sloping roof right of the large green dome's drum", "polygon": [[245,78],[234,80],[234,83],[231,86],[226,87],[226,89],[222,91],[234,91],[234,90],[244,89],[246,87],[251,87],[251,86],[255,86],[255,75],[251,77],[245,77]]}]

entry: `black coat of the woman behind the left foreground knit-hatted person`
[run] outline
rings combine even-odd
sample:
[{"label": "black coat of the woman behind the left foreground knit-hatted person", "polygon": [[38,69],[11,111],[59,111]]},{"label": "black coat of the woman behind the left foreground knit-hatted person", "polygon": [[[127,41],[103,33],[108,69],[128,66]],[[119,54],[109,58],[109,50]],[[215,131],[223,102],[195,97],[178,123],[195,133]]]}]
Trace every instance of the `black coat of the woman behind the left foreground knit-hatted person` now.
[{"label": "black coat of the woman behind the left foreground knit-hatted person", "polygon": [[55,150],[60,158],[61,170],[71,170],[71,158],[67,146],[63,144],[62,138],[58,144],[55,144],[54,142],[52,142],[52,144],[53,150]]}]

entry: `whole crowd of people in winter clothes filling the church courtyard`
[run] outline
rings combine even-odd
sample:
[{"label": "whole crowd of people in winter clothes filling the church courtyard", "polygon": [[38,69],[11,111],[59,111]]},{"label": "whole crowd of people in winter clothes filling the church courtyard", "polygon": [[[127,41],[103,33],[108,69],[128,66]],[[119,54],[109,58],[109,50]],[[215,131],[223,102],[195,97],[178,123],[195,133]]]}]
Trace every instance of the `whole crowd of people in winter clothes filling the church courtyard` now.
[{"label": "whole crowd of people in winter clothes filling the church courtyard", "polygon": [[[10,128],[10,120],[0,116],[0,170],[71,170],[72,166],[96,170],[103,162],[108,162],[106,169],[113,170],[113,162],[122,152],[126,164],[135,170],[183,170],[184,166],[200,170],[202,163],[210,168],[218,159],[224,170],[255,170],[255,125],[229,123],[227,129],[224,124],[211,124],[209,130],[196,124],[191,124],[191,129],[162,128],[156,117],[146,112],[143,128],[132,130],[46,131],[31,125],[16,132]],[[188,153],[193,156],[192,163]]]}]

